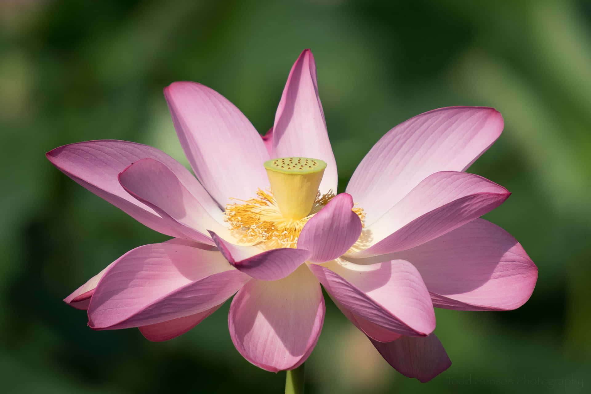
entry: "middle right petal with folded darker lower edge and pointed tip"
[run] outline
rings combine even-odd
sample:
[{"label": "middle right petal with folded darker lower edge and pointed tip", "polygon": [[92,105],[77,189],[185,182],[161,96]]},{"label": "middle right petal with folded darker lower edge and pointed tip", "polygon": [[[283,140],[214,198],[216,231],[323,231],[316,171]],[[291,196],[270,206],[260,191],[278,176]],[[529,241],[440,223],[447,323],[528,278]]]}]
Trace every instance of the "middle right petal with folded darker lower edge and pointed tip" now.
[{"label": "middle right petal with folded darker lower edge and pointed tip", "polygon": [[510,194],[504,187],[478,175],[436,172],[368,226],[365,237],[371,239],[371,246],[350,257],[414,248],[495,209]]}]

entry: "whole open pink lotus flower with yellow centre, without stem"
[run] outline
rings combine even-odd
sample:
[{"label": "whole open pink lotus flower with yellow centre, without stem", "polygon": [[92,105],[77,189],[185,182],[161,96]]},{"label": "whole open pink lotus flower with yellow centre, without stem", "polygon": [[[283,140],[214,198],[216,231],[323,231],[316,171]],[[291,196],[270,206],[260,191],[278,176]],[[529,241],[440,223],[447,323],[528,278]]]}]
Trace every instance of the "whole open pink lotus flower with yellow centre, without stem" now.
[{"label": "whole open pink lotus flower with yellow centre, without stem", "polygon": [[303,51],[263,138],[222,95],[164,89],[196,177],[151,146],[65,145],[47,158],[88,190],[173,237],[139,246],[64,301],[95,330],[179,336],[228,298],[236,349],[262,369],[303,363],[324,320],[321,284],[388,363],[425,382],[450,366],[433,307],[512,310],[537,268],[479,216],[509,192],[463,172],[500,135],[491,108],[432,110],[386,133],[337,194],[337,168]]}]

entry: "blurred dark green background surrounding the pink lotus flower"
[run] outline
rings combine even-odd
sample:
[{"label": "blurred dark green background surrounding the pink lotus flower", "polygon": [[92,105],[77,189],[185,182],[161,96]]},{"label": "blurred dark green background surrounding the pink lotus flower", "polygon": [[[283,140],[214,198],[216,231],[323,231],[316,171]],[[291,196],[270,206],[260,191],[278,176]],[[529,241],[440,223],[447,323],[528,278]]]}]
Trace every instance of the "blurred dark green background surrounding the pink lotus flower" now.
[{"label": "blurred dark green background surrounding the pink lotus flower", "polygon": [[[412,4],[412,5],[411,5]],[[184,161],[162,89],[222,93],[264,133],[310,47],[339,191],[390,128],[492,106],[505,131],[470,168],[513,192],[486,215],[540,269],[511,312],[437,310],[452,367],[421,384],[327,301],[308,393],[584,392],[591,385],[589,1],[0,2],[0,382],[6,393],[281,392],[244,360],[229,302],[174,340],[92,331],[64,304],[128,250],[167,237],[61,174],[59,145],[125,139]],[[491,382],[492,379],[492,382]]]}]

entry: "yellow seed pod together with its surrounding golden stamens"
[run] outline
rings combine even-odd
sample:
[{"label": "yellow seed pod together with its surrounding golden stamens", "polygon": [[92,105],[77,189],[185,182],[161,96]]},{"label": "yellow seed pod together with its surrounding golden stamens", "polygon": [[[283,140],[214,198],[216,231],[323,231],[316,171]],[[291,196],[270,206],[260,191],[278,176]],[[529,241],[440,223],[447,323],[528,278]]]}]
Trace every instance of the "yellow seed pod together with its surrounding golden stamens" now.
[{"label": "yellow seed pod together with its surrounding golden stamens", "polygon": [[[228,204],[225,221],[240,243],[259,244],[265,249],[296,248],[301,230],[311,217],[335,194],[320,194],[326,162],[305,157],[285,157],[266,161],[271,190],[256,192],[250,200]],[[354,208],[361,222],[363,209]]]}]

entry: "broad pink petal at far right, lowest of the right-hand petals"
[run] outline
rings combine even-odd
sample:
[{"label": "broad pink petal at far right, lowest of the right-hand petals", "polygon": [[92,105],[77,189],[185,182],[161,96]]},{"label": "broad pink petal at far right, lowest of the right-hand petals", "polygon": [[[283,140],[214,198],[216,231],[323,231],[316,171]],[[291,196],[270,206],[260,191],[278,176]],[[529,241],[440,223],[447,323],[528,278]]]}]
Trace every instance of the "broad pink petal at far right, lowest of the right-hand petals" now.
[{"label": "broad pink petal at far right, lowest of the right-hand petals", "polygon": [[412,262],[439,308],[513,310],[530,298],[538,278],[519,242],[483,219],[388,257]]}]

